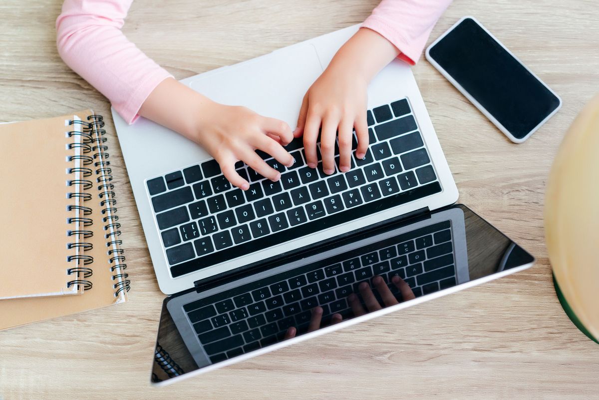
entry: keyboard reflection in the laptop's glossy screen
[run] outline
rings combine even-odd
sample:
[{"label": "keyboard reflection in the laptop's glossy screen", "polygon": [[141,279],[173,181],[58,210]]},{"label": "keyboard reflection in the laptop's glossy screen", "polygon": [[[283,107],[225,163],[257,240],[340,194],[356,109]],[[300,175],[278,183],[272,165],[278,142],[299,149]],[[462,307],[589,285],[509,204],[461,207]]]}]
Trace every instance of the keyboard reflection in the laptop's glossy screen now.
[{"label": "keyboard reflection in the laptop's glossy screen", "polygon": [[[450,221],[425,226],[321,262],[244,284],[183,306],[211,362],[268,346],[291,326],[307,331],[311,310],[323,308],[322,326],[332,314],[352,317],[347,302],[358,284],[380,275],[401,301],[391,279],[399,275],[418,296],[456,285]],[[375,296],[380,296],[374,290]]]}]

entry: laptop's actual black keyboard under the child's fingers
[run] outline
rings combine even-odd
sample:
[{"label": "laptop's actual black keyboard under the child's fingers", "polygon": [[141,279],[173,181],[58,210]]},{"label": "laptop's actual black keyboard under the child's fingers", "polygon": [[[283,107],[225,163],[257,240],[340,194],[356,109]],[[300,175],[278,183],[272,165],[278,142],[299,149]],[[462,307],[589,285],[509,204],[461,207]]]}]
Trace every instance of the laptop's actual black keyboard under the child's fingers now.
[{"label": "laptop's actual black keyboard under the child's fingers", "polygon": [[[305,163],[302,138],[285,148],[295,159],[286,167],[257,151],[281,172],[265,179],[238,162],[250,183],[232,187],[216,160],[147,180],[171,275],[179,277],[244,254],[340,225],[441,191],[407,99],[367,111],[370,146],[352,168],[324,174]],[[320,154],[320,153],[319,153]],[[320,157],[319,157],[320,158]],[[226,250],[226,251],[220,251]]]}]

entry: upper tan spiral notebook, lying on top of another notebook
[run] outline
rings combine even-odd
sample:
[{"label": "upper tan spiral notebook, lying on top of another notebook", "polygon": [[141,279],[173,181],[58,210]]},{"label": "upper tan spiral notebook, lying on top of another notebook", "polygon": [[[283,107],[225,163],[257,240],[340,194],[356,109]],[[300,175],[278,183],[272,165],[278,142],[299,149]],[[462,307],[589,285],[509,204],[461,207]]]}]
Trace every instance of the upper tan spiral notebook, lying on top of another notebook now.
[{"label": "upper tan spiral notebook, lying on top of another notebook", "polygon": [[81,191],[72,117],[0,125],[0,299],[83,292],[72,258],[83,250],[72,233],[81,222],[69,210],[82,199],[68,195]]}]

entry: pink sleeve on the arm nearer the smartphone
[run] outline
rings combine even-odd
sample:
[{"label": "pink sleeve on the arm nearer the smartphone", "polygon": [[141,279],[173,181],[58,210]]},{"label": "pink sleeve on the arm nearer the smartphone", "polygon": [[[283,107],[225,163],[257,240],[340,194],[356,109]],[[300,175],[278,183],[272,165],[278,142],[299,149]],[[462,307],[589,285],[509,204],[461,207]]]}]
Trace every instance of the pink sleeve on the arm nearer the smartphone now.
[{"label": "pink sleeve on the arm nearer the smartphone", "polygon": [[362,28],[372,29],[390,41],[400,59],[414,65],[432,28],[452,0],[383,0]]}]

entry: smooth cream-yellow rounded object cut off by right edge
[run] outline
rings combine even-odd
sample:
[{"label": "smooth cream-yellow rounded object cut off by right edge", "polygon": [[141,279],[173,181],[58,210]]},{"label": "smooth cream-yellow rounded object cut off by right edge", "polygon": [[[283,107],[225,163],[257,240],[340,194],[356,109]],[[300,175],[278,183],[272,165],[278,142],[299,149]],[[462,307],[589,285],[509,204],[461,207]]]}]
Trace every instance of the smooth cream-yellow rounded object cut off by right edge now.
[{"label": "smooth cream-yellow rounded object cut off by right edge", "polygon": [[549,260],[559,285],[556,289],[558,293],[561,290],[585,333],[597,341],[599,95],[580,112],[562,141],[549,174],[544,219]]}]

